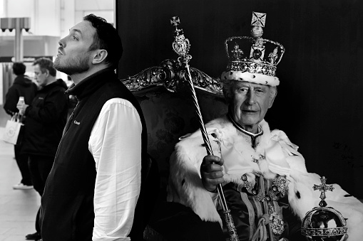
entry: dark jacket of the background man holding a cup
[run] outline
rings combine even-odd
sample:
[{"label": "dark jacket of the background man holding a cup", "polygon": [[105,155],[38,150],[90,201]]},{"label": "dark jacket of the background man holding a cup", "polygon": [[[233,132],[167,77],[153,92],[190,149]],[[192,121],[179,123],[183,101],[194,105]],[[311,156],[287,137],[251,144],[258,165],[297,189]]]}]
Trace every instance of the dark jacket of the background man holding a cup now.
[{"label": "dark jacket of the background man holding a cup", "polygon": [[22,153],[56,156],[68,113],[67,85],[56,80],[36,93],[26,108]]}]

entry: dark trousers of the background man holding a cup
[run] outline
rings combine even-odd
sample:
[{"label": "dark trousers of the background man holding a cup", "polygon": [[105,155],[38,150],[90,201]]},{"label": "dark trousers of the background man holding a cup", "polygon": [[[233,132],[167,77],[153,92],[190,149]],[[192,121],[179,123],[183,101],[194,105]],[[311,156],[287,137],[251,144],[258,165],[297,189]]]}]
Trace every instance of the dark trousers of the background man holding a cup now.
[{"label": "dark trousers of the background man holding a cup", "polygon": [[[54,156],[39,156],[39,155],[29,155],[29,171],[31,174],[31,181],[33,182],[34,189],[43,196],[44,186],[46,186],[46,178],[51,172],[51,167],[53,166]],[[36,232],[41,232],[39,227],[39,215],[36,213]]]}]

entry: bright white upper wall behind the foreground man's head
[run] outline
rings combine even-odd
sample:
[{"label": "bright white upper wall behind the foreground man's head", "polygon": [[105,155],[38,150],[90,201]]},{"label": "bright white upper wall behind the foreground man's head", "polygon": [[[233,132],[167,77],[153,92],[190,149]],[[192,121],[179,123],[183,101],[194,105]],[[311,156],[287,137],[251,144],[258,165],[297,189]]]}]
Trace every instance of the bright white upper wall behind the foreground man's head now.
[{"label": "bright white upper wall behind the foreground man's head", "polygon": [[[0,18],[31,18],[26,35],[63,38],[69,28],[83,16],[95,14],[113,23],[114,1],[117,0],[0,0]],[[14,36],[5,31],[1,36]]]}]

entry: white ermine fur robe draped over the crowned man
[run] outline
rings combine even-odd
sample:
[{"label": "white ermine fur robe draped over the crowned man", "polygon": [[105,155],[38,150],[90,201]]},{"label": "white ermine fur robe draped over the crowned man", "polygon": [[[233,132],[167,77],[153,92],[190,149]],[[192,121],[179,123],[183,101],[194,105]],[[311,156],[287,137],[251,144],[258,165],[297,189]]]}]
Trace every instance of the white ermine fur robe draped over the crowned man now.
[{"label": "white ermine fur robe draped over the crowned man", "polygon": [[[206,124],[213,154],[224,160],[224,184],[234,182],[243,185],[240,178],[243,174],[248,176],[249,181],[255,180],[254,173],[262,173],[270,179],[276,173],[285,175],[289,182],[287,195],[290,207],[302,220],[309,210],[318,206],[320,192],[312,187],[321,183],[321,177],[307,172],[305,159],[297,151],[298,146],[292,144],[284,132],[271,132],[265,120],[260,122],[260,127],[263,134],[257,138],[256,148],[252,149],[249,140],[227,117]],[[176,144],[170,158],[168,201],[192,208],[202,220],[222,225],[213,198],[200,179],[200,164],[206,154],[199,130]],[[252,159],[258,159],[260,154],[265,159],[253,162]],[[324,173],[324,176],[329,180],[329,173]],[[349,241],[363,240],[363,228],[360,227],[363,224],[363,204],[338,184],[333,186],[334,190],[326,193],[327,206],[337,209],[347,218]]]}]

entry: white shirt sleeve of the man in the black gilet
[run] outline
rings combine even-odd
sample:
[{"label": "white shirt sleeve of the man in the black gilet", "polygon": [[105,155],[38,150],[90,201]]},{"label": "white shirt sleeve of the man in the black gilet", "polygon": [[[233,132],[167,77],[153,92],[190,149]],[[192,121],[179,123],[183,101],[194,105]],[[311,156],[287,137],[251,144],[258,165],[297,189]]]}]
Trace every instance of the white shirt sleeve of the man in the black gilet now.
[{"label": "white shirt sleeve of the man in the black gilet", "polygon": [[92,240],[126,237],[141,186],[141,121],[128,100],[113,98],[103,105],[93,125],[88,149],[96,162]]}]

